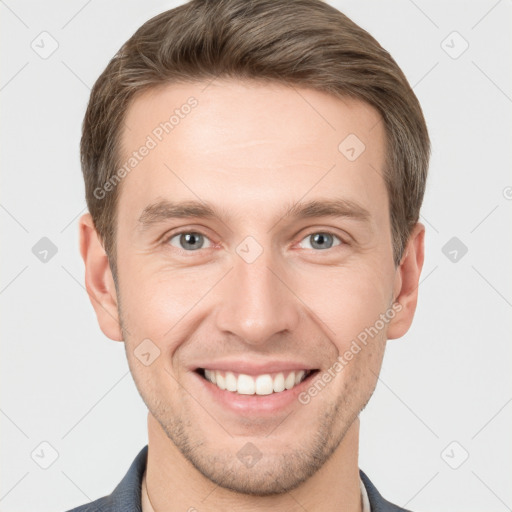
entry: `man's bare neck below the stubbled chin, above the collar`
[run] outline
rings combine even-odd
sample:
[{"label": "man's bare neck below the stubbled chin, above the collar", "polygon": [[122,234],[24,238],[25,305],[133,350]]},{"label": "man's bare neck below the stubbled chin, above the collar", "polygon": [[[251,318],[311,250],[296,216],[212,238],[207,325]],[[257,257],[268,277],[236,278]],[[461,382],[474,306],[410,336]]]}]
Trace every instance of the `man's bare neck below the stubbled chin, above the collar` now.
[{"label": "man's bare neck below the stubbled chin, above the collar", "polygon": [[281,495],[245,495],[221,488],[200,473],[148,413],[147,493],[154,512],[361,512],[358,445],[357,418],[329,460],[301,486]]}]

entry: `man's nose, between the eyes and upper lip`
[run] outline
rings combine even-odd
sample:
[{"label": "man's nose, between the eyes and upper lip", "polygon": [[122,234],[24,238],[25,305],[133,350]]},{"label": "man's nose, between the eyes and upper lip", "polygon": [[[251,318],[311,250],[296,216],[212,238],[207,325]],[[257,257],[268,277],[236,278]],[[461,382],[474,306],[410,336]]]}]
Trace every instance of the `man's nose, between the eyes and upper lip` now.
[{"label": "man's nose, between the eyes and upper lip", "polygon": [[301,302],[270,251],[252,263],[235,254],[234,268],[221,286],[216,321],[224,334],[262,345],[278,333],[297,328]]}]

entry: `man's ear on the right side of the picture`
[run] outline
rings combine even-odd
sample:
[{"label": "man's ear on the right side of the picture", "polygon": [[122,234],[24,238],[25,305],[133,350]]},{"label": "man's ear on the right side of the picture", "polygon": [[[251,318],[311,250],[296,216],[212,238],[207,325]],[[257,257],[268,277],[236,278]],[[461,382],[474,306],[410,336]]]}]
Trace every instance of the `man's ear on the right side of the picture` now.
[{"label": "man's ear on the right side of the picture", "polygon": [[388,339],[400,338],[412,324],[418,302],[418,286],[425,256],[425,226],[416,223],[409,236],[400,266],[396,269],[393,289],[394,302],[401,306],[400,311],[388,324]]}]

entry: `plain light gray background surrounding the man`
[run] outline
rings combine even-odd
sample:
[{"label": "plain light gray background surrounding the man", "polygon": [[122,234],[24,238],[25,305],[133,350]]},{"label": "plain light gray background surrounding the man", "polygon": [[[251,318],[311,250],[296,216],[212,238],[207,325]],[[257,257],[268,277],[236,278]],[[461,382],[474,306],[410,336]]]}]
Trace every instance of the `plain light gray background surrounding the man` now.
[{"label": "plain light gray background surrounding the man", "polygon": [[[78,145],[108,60],[178,3],[0,1],[2,511],[109,494],[147,442],[123,345],[102,334],[83,286]],[[360,467],[415,511],[511,510],[512,2],[330,3],[402,67],[433,144],[418,310],[362,413]],[[51,49],[43,31],[59,45],[46,59],[31,47]],[[468,248],[456,262],[442,252],[454,236]],[[32,252],[42,237],[58,249],[46,263]],[[42,442],[59,454],[48,469]]]}]

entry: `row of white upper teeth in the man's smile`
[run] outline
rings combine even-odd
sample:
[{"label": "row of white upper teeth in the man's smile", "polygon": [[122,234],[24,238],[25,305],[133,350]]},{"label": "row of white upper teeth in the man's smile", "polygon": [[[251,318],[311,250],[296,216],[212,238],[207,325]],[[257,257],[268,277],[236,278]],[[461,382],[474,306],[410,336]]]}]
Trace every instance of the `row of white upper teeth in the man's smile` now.
[{"label": "row of white upper teeth in the man's smile", "polygon": [[205,369],[204,374],[210,382],[216,384],[220,389],[236,391],[241,395],[270,395],[273,392],[279,393],[285,389],[292,389],[304,380],[306,371],[289,372],[286,379],[282,372],[275,374],[273,377],[268,373],[253,377],[244,373],[235,375],[233,372]]}]

